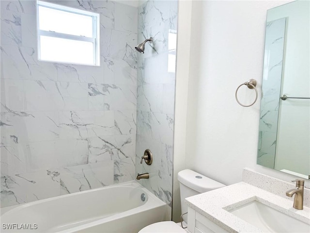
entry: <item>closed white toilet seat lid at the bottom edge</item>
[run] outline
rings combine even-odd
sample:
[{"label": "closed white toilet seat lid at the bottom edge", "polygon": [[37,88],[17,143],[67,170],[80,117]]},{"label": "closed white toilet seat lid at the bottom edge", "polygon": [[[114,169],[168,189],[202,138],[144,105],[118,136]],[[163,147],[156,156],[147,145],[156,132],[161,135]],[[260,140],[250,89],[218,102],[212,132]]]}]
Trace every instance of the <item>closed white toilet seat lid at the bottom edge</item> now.
[{"label": "closed white toilet seat lid at the bottom edge", "polygon": [[148,225],[138,233],[186,233],[186,231],[173,221],[164,221]]}]

